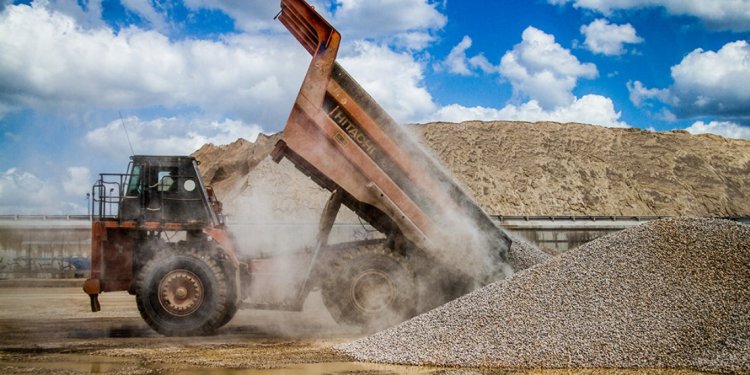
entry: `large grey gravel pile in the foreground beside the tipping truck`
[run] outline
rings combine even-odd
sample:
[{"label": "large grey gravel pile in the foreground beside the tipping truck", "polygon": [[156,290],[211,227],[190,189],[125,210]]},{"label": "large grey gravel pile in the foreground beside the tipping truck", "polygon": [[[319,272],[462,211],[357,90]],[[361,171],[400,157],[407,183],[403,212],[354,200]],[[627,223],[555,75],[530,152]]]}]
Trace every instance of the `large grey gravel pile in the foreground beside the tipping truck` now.
[{"label": "large grey gravel pile in the foreground beside the tipping truck", "polygon": [[360,361],[750,371],[750,226],[614,233],[336,350]]}]

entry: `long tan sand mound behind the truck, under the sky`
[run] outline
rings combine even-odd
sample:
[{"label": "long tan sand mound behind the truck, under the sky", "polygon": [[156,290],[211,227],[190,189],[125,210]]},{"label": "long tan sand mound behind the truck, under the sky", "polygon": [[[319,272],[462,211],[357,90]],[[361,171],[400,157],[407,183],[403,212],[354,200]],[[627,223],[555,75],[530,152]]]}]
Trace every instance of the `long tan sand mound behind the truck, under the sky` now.
[{"label": "long tan sand mound behind the truck, under the sky", "polygon": [[[550,122],[410,128],[489,214],[750,215],[748,140]],[[278,139],[261,135],[255,143],[207,145],[195,156],[207,183],[231,207]],[[283,199],[292,205],[317,200],[322,207],[327,194],[304,198],[317,186],[292,172],[292,179],[278,183],[299,186],[301,193]]]}]

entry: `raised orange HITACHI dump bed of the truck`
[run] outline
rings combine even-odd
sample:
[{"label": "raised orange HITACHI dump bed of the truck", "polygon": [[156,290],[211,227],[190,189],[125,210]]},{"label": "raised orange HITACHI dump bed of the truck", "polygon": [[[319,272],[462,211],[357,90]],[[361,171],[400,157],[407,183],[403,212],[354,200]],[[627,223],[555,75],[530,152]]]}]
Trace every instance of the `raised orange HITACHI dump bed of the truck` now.
[{"label": "raised orange HITACHI dump bed of the truck", "polygon": [[343,203],[375,228],[457,271],[502,276],[509,237],[336,63],[339,33],[304,0],[282,0],[279,20],[313,58],[274,160],[344,191]]}]

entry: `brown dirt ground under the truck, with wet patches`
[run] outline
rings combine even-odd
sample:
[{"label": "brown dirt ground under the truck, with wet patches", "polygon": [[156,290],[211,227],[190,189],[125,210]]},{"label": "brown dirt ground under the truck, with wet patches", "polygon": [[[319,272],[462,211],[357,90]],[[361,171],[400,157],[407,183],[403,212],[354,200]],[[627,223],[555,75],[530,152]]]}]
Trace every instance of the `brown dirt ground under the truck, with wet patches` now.
[{"label": "brown dirt ground under the truck, with wet patches", "polygon": [[[445,369],[351,362],[330,347],[358,337],[311,295],[298,312],[241,310],[210,337],[170,338],[141,320],[125,292],[89,311],[78,282],[9,287],[0,281],[3,374],[695,374],[680,370]],[[38,284],[31,284],[38,285]]]}]

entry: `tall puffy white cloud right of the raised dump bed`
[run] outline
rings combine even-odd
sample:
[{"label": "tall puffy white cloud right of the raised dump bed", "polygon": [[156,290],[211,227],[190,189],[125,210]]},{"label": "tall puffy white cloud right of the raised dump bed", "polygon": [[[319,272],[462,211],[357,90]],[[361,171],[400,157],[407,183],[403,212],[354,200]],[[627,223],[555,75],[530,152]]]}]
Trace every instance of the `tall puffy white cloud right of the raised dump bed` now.
[{"label": "tall puffy white cloud right of the raised dump bed", "polygon": [[531,26],[521,43],[505,53],[499,71],[516,95],[536,100],[545,109],[570,105],[578,79],[598,75],[594,64],[582,64],[554,36]]}]

